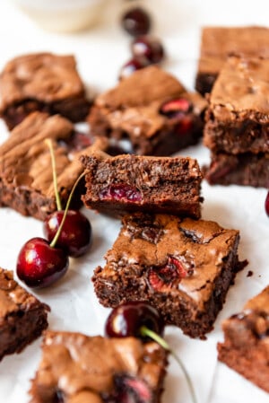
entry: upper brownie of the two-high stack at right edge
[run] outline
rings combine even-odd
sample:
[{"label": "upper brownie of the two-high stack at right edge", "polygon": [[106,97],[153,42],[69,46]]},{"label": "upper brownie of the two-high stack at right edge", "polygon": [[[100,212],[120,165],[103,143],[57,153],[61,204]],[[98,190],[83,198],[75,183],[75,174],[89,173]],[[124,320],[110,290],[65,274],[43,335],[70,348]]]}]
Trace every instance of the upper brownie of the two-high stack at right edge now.
[{"label": "upper brownie of the two-high stack at right edge", "polygon": [[269,153],[269,59],[229,57],[213,86],[204,145],[213,153]]}]

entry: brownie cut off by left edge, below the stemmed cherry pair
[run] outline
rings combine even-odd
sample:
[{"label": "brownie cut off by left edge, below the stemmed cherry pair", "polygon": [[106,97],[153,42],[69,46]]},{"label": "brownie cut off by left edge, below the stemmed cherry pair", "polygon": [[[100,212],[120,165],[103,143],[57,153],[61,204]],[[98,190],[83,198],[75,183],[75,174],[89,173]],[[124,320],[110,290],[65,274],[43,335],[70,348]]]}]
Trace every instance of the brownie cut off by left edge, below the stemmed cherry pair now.
[{"label": "brownie cut off by left edge, below the stemmed cherry pair", "polygon": [[0,267],[0,361],[20,353],[48,327],[49,307],[13,279],[13,272]]}]

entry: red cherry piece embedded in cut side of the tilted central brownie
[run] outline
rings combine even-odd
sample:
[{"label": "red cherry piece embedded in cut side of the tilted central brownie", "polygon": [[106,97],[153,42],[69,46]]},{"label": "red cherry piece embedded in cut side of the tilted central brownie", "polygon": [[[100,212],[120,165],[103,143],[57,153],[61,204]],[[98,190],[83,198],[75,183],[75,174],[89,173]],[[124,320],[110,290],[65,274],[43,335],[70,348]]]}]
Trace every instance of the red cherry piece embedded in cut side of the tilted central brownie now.
[{"label": "red cherry piece embedded in cut side of the tilted central brownie", "polygon": [[139,202],[142,200],[141,192],[132,186],[122,184],[114,184],[100,191],[100,199],[109,199],[115,201],[133,201]]}]

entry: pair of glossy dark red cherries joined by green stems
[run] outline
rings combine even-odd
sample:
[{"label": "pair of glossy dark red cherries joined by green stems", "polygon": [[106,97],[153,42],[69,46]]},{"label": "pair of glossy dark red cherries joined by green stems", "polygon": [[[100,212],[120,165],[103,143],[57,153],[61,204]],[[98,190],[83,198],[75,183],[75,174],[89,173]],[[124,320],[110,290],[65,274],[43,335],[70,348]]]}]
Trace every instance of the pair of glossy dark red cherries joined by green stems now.
[{"label": "pair of glossy dark red cherries joined by green stems", "polygon": [[30,239],[22,246],[17,258],[17,276],[32,288],[55,283],[65,275],[69,267],[69,257],[78,258],[91,246],[90,221],[80,211],[69,210],[74,189],[83,174],[74,183],[64,211],[56,189],[54,153],[49,140],[48,146],[52,157],[57,211],[48,215],[43,223],[46,239]]}]

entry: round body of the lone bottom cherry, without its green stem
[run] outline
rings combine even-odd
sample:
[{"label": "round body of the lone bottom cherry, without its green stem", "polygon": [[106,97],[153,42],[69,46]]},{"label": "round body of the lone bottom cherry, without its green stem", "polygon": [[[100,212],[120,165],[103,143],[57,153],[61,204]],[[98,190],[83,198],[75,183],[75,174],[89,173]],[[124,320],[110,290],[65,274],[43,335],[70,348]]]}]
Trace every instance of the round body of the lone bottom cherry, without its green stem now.
[{"label": "round body of the lone bottom cherry, without its green stem", "polygon": [[145,326],[162,335],[164,323],[159,312],[147,302],[126,302],[114,308],[106,321],[107,337],[140,337]]}]

